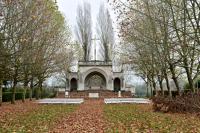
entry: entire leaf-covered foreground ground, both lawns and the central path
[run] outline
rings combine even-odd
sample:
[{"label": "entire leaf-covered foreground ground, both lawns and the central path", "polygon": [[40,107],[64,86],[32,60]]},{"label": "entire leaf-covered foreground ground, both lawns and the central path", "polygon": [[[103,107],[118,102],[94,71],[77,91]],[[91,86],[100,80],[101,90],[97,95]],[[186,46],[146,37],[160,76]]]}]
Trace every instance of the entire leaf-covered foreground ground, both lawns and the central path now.
[{"label": "entire leaf-covered foreground ground, both lawns and the central path", "polygon": [[0,107],[0,132],[200,132],[200,119],[190,114],[153,112],[151,105],[113,104],[86,100],[81,105],[38,105],[34,102]]}]

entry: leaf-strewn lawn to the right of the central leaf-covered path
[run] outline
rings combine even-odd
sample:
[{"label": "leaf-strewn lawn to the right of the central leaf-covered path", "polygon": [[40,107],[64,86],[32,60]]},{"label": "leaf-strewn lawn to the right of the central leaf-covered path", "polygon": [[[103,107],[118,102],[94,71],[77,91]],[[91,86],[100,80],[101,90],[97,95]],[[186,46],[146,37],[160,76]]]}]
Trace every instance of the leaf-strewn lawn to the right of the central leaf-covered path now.
[{"label": "leaf-strewn lawn to the right of the central leaf-covered path", "polygon": [[108,133],[196,133],[200,117],[191,114],[153,112],[150,105],[113,104],[104,106]]}]

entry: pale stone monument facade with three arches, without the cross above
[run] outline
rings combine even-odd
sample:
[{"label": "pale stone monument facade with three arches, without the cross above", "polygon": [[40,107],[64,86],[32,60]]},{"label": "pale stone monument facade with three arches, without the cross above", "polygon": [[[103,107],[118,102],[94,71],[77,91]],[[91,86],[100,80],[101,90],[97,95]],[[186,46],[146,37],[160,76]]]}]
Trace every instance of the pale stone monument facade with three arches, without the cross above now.
[{"label": "pale stone monument facade with three arches, without the cross above", "polygon": [[112,62],[79,62],[78,72],[70,73],[68,79],[69,90],[124,90],[123,72],[113,72]]}]

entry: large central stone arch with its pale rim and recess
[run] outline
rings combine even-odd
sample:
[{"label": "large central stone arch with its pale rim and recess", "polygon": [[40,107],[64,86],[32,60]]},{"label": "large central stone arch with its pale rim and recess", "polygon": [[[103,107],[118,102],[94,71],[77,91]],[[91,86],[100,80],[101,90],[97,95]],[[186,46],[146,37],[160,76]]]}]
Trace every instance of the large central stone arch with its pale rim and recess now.
[{"label": "large central stone arch with its pale rim and recess", "polygon": [[84,77],[85,89],[106,89],[108,77],[101,69],[90,69],[86,72]]}]

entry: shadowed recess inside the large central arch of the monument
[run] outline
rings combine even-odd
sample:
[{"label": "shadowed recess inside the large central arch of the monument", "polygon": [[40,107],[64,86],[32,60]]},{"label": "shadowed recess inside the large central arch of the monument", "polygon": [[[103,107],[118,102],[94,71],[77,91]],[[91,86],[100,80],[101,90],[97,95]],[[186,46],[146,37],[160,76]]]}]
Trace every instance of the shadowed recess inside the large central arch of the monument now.
[{"label": "shadowed recess inside the large central arch of the monument", "polygon": [[100,72],[91,72],[85,78],[86,90],[102,90],[106,89],[106,78]]}]

